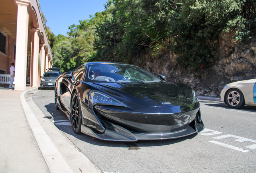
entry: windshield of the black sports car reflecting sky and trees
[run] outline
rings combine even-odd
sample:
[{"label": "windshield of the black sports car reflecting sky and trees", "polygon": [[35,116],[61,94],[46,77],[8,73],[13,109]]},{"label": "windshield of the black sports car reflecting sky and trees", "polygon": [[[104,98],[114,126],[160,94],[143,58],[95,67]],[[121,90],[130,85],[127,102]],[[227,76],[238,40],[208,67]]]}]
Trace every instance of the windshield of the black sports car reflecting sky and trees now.
[{"label": "windshield of the black sports car reflecting sky and trees", "polygon": [[161,82],[157,76],[137,66],[95,64],[88,67],[87,78],[93,82]]}]

